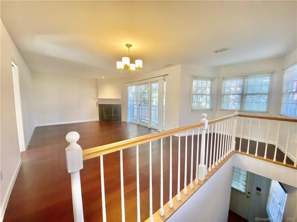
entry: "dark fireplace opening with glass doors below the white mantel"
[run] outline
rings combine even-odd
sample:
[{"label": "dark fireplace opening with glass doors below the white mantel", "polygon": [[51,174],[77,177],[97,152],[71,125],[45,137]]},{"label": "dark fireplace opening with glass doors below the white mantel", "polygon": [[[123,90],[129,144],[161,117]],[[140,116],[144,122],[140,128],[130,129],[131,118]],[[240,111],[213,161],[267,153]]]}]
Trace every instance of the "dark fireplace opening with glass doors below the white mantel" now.
[{"label": "dark fireplace opening with glass doors below the white mantel", "polygon": [[121,104],[99,104],[100,121],[121,121]]}]

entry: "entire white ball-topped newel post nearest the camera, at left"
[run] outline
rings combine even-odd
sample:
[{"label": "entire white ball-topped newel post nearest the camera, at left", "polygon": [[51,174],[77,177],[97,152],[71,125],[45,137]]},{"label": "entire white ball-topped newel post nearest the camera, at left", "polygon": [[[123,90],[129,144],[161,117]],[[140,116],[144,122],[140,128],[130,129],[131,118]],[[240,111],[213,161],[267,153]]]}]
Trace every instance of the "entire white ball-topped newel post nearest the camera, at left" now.
[{"label": "entire white ball-topped newel post nearest the camera, at left", "polygon": [[79,171],[83,168],[83,153],[80,145],[76,143],[79,140],[77,132],[67,133],[66,140],[70,143],[65,152],[67,171],[71,175],[73,216],[75,222],[81,222],[83,221],[83,202]]}]

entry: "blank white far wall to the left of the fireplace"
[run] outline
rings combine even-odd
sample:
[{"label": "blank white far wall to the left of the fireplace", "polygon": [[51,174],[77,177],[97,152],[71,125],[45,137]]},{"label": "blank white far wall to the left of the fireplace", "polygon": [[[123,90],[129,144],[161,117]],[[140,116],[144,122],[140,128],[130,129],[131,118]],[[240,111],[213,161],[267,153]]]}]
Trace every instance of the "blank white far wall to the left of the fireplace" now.
[{"label": "blank white far wall to the left of the fireplace", "polygon": [[37,126],[98,120],[96,79],[34,73],[33,82]]}]

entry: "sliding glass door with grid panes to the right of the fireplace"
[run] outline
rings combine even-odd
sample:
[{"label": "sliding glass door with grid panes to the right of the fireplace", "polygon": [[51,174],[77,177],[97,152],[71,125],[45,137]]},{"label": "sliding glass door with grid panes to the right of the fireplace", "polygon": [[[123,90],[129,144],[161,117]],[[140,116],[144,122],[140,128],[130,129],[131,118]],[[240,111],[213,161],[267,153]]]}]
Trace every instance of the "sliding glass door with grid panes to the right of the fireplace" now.
[{"label": "sliding glass door with grid panes to the right of the fireplace", "polygon": [[[161,83],[164,83],[164,81]],[[129,122],[158,130],[161,128],[161,130],[163,130],[162,123],[165,123],[165,121],[163,121],[165,115],[162,114],[165,114],[165,86],[162,87],[161,91],[159,81],[128,86]],[[162,98],[160,98],[160,94]],[[161,104],[159,104],[159,99],[162,101]],[[159,107],[160,105],[162,105],[161,108]],[[162,117],[160,118],[160,116]],[[158,127],[158,122],[161,123],[162,126]]]}]

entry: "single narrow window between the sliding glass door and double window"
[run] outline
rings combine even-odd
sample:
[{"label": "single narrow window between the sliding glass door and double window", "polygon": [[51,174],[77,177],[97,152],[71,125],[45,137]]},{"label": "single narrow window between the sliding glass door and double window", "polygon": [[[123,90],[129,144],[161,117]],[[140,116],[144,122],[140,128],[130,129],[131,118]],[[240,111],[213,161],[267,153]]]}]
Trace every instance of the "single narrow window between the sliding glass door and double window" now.
[{"label": "single narrow window between the sliding glass door and double window", "polygon": [[192,76],[191,112],[211,110],[212,78]]}]

